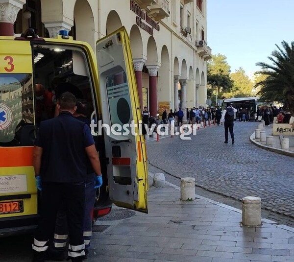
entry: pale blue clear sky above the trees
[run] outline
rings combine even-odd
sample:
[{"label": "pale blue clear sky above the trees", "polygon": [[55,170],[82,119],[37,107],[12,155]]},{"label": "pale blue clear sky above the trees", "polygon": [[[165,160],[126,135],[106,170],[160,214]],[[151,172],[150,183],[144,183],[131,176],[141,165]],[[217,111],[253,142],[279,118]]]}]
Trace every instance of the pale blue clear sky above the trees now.
[{"label": "pale blue clear sky above the trees", "polygon": [[207,0],[207,45],[232,72],[259,71],[283,40],[294,41],[294,0]]}]

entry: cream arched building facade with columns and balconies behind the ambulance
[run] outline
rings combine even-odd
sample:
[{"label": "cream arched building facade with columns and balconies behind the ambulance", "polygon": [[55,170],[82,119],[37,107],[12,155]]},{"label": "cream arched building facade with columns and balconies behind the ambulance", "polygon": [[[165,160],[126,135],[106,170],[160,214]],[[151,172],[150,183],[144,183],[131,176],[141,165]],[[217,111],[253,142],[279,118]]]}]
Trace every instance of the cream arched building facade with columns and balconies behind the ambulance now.
[{"label": "cream arched building facade with columns and balconies behind the ambulance", "polygon": [[206,0],[0,0],[0,13],[0,35],[33,27],[40,37],[55,37],[63,29],[94,50],[124,26],[141,108],[156,115],[206,106]]}]

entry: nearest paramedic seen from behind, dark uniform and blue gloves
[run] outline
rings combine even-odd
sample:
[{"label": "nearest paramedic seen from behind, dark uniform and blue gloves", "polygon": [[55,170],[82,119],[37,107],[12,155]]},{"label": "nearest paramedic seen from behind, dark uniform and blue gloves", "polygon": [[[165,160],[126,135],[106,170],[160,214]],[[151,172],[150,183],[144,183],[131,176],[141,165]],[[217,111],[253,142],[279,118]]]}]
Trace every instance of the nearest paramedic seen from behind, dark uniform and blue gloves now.
[{"label": "nearest paramedic seen from behind, dark uniform and blue gloves", "polygon": [[68,256],[82,262],[85,255],[83,218],[86,162],[89,158],[102,184],[101,168],[91,130],[73,117],[75,96],[65,92],[58,99],[58,117],[41,122],[33,151],[36,184],[41,194],[41,217],[34,235],[33,262],[43,262],[53,238],[56,214],[64,203],[69,226]]}]

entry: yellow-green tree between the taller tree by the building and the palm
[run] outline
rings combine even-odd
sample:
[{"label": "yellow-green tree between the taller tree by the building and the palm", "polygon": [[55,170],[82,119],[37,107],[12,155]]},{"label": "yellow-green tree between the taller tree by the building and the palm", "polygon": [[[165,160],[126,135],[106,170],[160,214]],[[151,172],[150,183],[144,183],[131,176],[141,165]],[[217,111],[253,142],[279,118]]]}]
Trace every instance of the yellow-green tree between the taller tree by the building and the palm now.
[{"label": "yellow-green tree between the taller tree by the building and the palm", "polygon": [[231,92],[225,94],[226,97],[249,97],[253,94],[253,82],[246,75],[243,68],[240,67],[231,73],[231,79],[234,84]]}]

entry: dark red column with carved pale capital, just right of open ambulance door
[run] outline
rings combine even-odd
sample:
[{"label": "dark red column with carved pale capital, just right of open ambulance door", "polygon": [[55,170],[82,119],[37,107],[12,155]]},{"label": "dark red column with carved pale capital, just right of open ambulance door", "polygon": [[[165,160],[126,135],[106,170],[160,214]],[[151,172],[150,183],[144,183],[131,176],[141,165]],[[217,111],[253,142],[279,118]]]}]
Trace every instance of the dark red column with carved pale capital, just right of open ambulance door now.
[{"label": "dark red column with carved pale capital, just right of open ambulance door", "polygon": [[157,72],[159,66],[147,66],[149,71],[149,111],[150,116],[156,116],[158,103],[157,103]]}]

